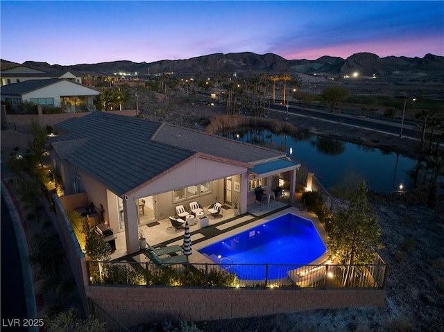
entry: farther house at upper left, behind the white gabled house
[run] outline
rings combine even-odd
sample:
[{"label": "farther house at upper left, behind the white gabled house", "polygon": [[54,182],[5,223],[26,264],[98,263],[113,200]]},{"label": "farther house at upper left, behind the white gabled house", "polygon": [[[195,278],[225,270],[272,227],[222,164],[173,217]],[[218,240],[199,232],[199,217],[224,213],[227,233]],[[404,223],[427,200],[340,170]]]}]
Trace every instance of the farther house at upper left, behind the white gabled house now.
[{"label": "farther house at upper left, behind the white gabled house", "polygon": [[21,64],[1,71],[1,86],[26,80],[47,80],[48,78],[60,78],[82,84],[82,75],[76,71],[40,69]]}]

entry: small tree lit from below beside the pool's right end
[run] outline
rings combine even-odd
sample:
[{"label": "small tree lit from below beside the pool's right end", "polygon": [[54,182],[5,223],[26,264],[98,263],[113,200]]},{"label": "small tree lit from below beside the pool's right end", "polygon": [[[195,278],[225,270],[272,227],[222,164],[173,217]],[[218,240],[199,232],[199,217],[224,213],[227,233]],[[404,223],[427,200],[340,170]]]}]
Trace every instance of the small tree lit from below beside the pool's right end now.
[{"label": "small tree lit from below beside the pool's right end", "polygon": [[350,198],[347,209],[341,209],[334,218],[330,231],[330,250],[348,265],[344,286],[355,264],[368,264],[375,257],[373,247],[379,245],[381,234],[376,216],[367,200],[366,182],[359,184]]}]

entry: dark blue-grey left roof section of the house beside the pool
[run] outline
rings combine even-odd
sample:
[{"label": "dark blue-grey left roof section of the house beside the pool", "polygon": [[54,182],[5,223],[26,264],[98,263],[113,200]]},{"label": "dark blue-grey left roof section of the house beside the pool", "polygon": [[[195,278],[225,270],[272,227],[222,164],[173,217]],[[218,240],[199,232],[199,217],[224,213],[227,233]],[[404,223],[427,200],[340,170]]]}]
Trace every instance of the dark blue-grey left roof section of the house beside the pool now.
[{"label": "dark blue-grey left roof section of the house beside the pool", "polygon": [[[60,137],[60,142],[87,139],[64,157],[117,195],[123,195],[195,154],[153,141],[151,137],[160,125],[129,116],[92,112],[58,123],[56,128],[69,132]],[[57,143],[53,146],[63,148]]]}]

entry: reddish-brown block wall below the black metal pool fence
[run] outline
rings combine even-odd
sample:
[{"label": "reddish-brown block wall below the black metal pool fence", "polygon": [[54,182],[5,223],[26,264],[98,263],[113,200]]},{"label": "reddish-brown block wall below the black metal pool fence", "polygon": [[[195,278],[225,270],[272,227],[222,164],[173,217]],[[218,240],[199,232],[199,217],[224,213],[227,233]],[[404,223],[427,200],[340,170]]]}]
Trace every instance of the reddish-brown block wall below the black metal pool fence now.
[{"label": "reddish-brown block wall below the black metal pool fence", "polygon": [[126,326],[180,317],[189,322],[317,309],[384,306],[381,289],[144,288],[86,286],[87,297]]}]

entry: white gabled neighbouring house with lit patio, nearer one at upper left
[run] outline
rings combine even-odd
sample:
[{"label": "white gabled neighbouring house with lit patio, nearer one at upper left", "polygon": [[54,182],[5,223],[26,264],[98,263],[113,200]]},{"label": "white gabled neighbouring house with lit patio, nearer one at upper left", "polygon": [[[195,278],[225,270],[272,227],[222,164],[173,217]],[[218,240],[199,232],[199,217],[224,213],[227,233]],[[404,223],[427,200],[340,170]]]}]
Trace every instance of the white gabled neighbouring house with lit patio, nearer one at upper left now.
[{"label": "white gabled neighbouring house with lit patio, nearer one at upper left", "polygon": [[19,103],[31,101],[44,107],[61,107],[66,112],[93,111],[96,89],[59,78],[26,80],[1,87],[1,101],[17,110]]}]

